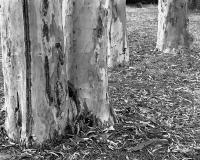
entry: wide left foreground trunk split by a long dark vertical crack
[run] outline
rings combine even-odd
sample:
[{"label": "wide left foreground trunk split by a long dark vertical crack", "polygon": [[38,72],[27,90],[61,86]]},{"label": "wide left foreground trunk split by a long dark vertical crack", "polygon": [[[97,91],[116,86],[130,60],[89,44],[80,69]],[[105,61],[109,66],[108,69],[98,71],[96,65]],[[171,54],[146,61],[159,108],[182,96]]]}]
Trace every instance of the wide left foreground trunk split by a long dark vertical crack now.
[{"label": "wide left foreground trunk split by a long dark vertical crack", "polygon": [[[67,19],[69,2],[63,3]],[[5,128],[14,141],[43,142],[64,133],[77,112],[69,105],[62,1],[3,0],[2,5]]]}]

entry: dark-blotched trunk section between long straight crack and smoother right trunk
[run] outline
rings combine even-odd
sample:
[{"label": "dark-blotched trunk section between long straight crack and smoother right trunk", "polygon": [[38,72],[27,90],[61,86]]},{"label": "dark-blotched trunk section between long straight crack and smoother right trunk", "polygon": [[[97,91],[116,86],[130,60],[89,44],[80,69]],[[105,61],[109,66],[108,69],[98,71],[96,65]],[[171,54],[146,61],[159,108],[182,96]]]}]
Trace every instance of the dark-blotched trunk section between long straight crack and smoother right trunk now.
[{"label": "dark-blotched trunk section between long straight crack and smoother right trunk", "polygon": [[[62,3],[59,0],[30,2],[32,45],[33,138],[44,141],[64,134],[70,109],[66,84]],[[75,112],[75,111],[74,111]],[[74,115],[72,115],[74,116]]]}]

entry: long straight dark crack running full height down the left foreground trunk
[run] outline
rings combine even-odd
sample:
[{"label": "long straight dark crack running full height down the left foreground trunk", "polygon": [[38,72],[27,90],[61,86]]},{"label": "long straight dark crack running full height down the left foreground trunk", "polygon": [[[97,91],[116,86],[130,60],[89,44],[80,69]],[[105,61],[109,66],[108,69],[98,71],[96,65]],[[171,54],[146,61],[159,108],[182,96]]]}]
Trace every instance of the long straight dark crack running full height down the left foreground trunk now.
[{"label": "long straight dark crack running full height down the left foreground trunk", "polygon": [[[25,40],[25,59],[26,59],[26,134],[28,140],[32,135],[32,105],[31,105],[31,42],[29,28],[29,5],[28,0],[22,0],[23,19],[24,19],[24,40]],[[29,143],[29,142],[28,142]]]}]

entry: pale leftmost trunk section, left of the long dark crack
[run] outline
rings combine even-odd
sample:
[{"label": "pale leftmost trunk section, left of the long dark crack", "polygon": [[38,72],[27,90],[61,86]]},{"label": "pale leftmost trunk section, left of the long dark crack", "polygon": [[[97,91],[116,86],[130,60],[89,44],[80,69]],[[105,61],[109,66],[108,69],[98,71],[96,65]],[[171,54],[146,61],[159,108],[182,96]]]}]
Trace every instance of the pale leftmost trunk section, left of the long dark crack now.
[{"label": "pale leftmost trunk section, left of the long dark crack", "polygon": [[3,1],[1,21],[2,67],[7,112],[5,128],[9,138],[19,142],[21,134],[26,135],[28,132],[27,66],[22,1]]}]

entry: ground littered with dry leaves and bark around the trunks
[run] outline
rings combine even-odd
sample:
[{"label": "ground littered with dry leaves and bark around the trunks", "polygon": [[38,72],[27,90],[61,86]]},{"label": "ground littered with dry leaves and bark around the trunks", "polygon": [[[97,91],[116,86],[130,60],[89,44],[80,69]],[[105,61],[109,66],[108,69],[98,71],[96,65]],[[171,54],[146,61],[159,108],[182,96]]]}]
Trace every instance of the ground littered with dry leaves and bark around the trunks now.
[{"label": "ground littered with dry leaves and bark around the trunks", "polygon": [[1,127],[0,159],[200,160],[200,14],[189,18],[191,50],[162,54],[154,50],[156,6],[127,7],[130,65],[109,71],[119,123],[39,149],[8,143]]}]

